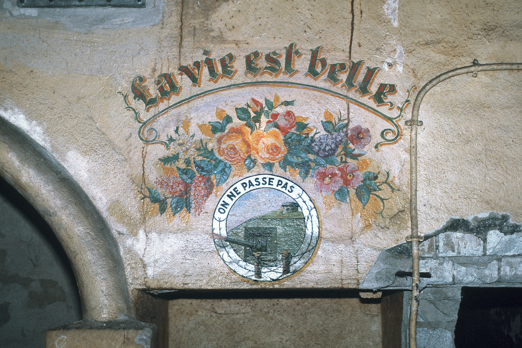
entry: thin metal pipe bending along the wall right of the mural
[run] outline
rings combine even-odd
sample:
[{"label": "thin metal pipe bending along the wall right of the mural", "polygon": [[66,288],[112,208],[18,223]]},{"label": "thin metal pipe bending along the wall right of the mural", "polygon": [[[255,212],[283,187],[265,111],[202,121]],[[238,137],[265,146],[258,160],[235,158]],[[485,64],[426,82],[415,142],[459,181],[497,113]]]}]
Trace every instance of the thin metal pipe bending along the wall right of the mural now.
[{"label": "thin metal pipe bending along the wall right of the mural", "polygon": [[477,76],[479,71],[494,71],[494,70],[522,70],[522,63],[492,63],[479,64],[477,60],[473,61],[473,65],[456,68],[438,75],[425,84],[418,92],[413,108],[411,110],[411,120],[406,124],[411,126],[410,135],[410,221],[411,221],[411,236],[406,237],[406,240],[411,241],[411,303],[410,303],[410,348],[417,348],[417,311],[419,308],[419,293],[420,293],[420,277],[419,277],[419,241],[423,240],[419,236],[419,224],[417,215],[417,126],[422,125],[419,122],[419,109],[421,102],[426,93],[438,83],[443,82],[453,76],[473,73],[473,77]]}]

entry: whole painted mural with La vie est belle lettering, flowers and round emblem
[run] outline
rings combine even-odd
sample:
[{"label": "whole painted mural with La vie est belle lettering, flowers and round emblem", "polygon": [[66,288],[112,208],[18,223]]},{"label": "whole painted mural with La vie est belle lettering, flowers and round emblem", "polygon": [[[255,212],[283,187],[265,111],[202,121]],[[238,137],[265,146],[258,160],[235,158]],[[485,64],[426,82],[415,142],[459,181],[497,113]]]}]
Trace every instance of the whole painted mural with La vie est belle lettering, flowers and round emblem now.
[{"label": "whole painted mural with La vie est belle lettering, flowers and round emblem", "polygon": [[[138,194],[152,205],[148,216],[157,214],[167,223],[179,217],[187,225],[215,208],[216,223],[216,214],[227,208],[222,204],[233,202],[227,202],[225,194],[217,205],[207,206],[207,201],[215,196],[215,202],[223,190],[238,187],[238,180],[264,173],[291,180],[315,212],[313,201],[320,199],[323,213],[345,214],[345,205],[349,214],[361,216],[365,226],[384,217],[400,188],[383,160],[386,157],[378,154],[401,140],[399,121],[415,87],[399,91],[396,84],[376,82],[382,68],[365,67],[365,61],[329,64],[323,49],[310,49],[309,60],[303,59],[295,43],[282,53],[246,53],[243,74],[238,74],[235,54],[216,59],[204,50],[204,59],[180,65],[176,73],[161,73],[153,83],[137,76],[130,94],[118,92],[139,124],[137,136],[145,146]],[[392,101],[396,94],[401,100]],[[163,103],[167,106],[160,109]],[[294,197],[280,203],[292,202],[290,198],[305,214]],[[255,206],[241,208],[257,211]],[[227,218],[221,218],[224,225],[219,220],[212,227],[216,249],[236,274],[251,281],[281,280],[298,273],[311,260],[319,238],[317,219],[317,231],[306,227],[303,232],[303,240],[316,238],[313,248],[269,252],[264,246],[260,251],[245,232],[250,227],[233,231],[235,227],[227,229]],[[253,231],[252,236],[264,236],[263,242],[270,245],[277,233],[275,227],[267,228],[272,232]],[[254,243],[250,251],[245,243]],[[295,258],[297,253],[301,257]]]}]

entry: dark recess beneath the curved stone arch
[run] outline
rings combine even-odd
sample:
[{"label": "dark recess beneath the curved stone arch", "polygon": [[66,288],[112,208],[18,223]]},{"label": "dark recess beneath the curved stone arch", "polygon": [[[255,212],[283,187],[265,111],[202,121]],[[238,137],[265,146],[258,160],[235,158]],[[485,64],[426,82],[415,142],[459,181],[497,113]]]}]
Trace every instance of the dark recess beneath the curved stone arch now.
[{"label": "dark recess beneath the curved stone arch", "polygon": [[81,319],[76,279],[51,227],[0,177],[0,346],[45,347]]}]

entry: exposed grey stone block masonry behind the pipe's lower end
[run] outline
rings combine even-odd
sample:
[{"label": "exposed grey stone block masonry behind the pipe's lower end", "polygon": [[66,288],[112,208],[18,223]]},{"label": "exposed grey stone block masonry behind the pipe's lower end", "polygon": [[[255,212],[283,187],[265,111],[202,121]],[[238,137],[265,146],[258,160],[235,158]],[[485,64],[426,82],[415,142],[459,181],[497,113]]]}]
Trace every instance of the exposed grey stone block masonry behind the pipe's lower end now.
[{"label": "exposed grey stone block masonry behind the pipe's lower end", "polygon": [[[495,212],[449,219],[424,235],[419,247],[421,278],[418,347],[455,347],[455,324],[462,286],[522,286],[522,224],[509,214]],[[361,287],[411,288],[411,245],[401,243],[384,250]],[[410,292],[406,292],[410,294]],[[403,347],[407,347],[410,296],[404,297]],[[406,308],[408,312],[406,312]]]}]

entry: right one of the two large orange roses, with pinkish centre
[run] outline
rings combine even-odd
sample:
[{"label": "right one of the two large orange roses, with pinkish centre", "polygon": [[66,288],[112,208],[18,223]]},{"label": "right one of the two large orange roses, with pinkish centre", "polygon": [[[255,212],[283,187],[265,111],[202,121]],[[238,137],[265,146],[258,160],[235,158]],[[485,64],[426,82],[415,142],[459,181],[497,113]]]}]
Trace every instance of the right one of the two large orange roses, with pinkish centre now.
[{"label": "right one of the two large orange roses, with pinkish centre", "polygon": [[267,133],[255,131],[250,138],[254,144],[253,155],[260,163],[278,162],[287,153],[283,136],[277,129],[272,129]]}]

